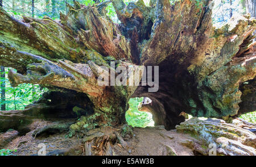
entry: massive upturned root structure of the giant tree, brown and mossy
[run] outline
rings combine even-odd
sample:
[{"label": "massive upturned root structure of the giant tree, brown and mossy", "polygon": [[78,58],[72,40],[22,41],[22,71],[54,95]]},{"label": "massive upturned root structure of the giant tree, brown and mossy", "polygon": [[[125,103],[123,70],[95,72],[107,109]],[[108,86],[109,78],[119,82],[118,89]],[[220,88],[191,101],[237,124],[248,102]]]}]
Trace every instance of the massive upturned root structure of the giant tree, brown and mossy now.
[{"label": "massive upturned root structure of the giant tree, brown and mossy", "polygon": [[[156,0],[150,6],[112,0],[121,21],[116,24],[106,16],[108,3],[75,2],[60,21],[19,21],[0,8],[0,64],[17,69],[9,72],[11,83],[85,94],[96,114],[84,120],[100,125],[122,123],[131,97],[151,98],[156,124],[167,129],[184,121],[182,111],[216,118],[255,111],[246,105],[255,101],[255,19],[239,16],[214,28],[209,0]],[[113,70],[110,61],[135,70],[159,66],[159,90],[98,85],[100,66]],[[72,127],[79,131],[84,125]]]}]

